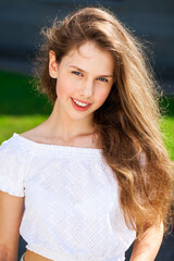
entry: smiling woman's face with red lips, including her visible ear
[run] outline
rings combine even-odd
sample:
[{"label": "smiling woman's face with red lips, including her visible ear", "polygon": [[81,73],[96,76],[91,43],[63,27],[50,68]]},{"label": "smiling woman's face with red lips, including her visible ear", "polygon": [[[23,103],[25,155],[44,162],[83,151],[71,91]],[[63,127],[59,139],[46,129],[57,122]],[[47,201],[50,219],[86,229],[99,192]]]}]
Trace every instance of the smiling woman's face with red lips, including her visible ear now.
[{"label": "smiling woman's face with red lips, including her visible ear", "polygon": [[71,50],[57,64],[50,51],[50,76],[57,78],[57,102],[71,119],[90,117],[100,108],[113,85],[112,54],[86,42]]}]

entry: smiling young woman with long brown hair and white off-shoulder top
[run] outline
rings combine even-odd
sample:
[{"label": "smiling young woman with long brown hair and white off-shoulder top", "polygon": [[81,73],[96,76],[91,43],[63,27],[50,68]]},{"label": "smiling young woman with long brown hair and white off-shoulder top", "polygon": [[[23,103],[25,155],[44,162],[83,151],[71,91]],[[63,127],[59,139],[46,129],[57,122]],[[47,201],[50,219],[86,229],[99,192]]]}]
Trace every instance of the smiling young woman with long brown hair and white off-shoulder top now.
[{"label": "smiling young woman with long brown hair and white off-shoulder top", "polygon": [[[0,146],[0,260],[154,260],[171,224],[173,164],[141,45],[109,11],[42,30],[39,126]],[[23,211],[24,208],[24,211]]]}]

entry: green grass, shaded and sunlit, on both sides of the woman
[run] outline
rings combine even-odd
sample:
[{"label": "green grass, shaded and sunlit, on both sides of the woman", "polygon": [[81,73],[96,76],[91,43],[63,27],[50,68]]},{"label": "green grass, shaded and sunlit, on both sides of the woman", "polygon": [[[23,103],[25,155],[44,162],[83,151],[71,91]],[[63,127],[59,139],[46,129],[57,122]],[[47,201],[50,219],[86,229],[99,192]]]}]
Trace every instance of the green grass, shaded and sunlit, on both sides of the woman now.
[{"label": "green grass, shaded and sunlit, on both sides of the woman", "polygon": [[[51,113],[51,104],[35,91],[30,79],[25,75],[0,71],[0,144],[13,133],[23,133],[39,125]],[[174,97],[162,97],[160,108],[164,145],[174,160]]]}]

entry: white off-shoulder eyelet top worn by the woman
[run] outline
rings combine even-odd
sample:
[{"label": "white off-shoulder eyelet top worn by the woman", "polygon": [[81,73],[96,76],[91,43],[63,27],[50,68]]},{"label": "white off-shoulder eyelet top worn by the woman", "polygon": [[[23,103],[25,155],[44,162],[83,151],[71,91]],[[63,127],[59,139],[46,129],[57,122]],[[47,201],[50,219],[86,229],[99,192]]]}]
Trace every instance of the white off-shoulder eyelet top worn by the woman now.
[{"label": "white off-shoulder eyelet top worn by the woman", "polygon": [[136,238],[101,150],[38,144],[14,133],[0,146],[0,189],[25,197],[26,248],[55,261],[123,261]]}]

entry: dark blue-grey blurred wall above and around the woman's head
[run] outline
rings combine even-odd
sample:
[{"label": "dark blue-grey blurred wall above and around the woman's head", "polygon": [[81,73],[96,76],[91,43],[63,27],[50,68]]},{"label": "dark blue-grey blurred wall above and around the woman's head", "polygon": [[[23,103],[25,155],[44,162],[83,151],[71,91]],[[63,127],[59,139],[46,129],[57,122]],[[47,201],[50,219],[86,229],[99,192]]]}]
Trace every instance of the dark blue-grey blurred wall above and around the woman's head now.
[{"label": "dark blue-grey blurred wall above and around the woman's head", "polygon": [[39,30],[63,18],[74,7],[100,3],[110,9],[134,34],[150,41],[154,67],[162,77],[173,78],[174,71],[174,1],[173,0],[1,0],[0,66],[5,59],[27,61],[40,41]]}]

